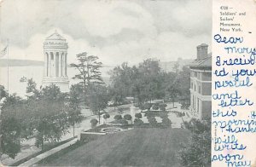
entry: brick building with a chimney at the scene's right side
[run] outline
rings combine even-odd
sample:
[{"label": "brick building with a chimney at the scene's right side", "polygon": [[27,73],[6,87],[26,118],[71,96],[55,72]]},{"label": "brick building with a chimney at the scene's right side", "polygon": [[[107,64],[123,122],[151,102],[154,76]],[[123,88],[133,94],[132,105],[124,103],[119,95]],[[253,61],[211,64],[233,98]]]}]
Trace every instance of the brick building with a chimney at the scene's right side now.
[{"label": "brick building with a chimney at the scene's right side", "polygon": [[208,45],[197,46],[197,58],[190,69],[190,110],[195,118],[211,118],[212,115],[212,54]]}]

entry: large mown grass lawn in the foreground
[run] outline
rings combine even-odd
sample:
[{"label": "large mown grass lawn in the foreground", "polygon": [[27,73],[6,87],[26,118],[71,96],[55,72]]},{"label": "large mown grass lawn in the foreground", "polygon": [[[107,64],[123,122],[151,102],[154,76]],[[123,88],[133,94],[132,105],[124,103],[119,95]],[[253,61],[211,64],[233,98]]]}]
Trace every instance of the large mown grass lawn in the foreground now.
[{"label": "large mown grass lawn in the foreground", "polygon": [[189,130],[134,129],[103,135],[44,166],[181,166],[179,143],[187,142]]}]

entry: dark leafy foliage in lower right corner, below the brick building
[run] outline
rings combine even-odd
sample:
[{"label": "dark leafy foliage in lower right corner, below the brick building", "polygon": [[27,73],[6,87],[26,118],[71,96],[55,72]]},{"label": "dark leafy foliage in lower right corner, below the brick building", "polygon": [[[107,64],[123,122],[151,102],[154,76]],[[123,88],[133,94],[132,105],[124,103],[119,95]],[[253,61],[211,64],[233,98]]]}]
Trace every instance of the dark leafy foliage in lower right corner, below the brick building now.
[{"label": "dark leafy foliage in lower right corner, below the brick building", "polygon": [[189,146],[186,143],[180,151],[180,160],[184,166],[211,166],[211,121],[191,119],[185,123],[192,136]]}]

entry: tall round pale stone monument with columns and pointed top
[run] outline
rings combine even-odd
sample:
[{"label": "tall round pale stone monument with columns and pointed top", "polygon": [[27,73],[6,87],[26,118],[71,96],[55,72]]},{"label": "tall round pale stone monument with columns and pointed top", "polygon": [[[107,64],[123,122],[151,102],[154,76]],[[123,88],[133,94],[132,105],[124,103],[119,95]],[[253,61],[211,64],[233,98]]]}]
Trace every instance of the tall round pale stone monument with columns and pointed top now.
[{"label": "tall round pale stone monument with columns and pointed top", "polygon": [[69,91],[67,48],[66,39],[56,31],[45,39],[43,86],[55,84],[61,92]]}]

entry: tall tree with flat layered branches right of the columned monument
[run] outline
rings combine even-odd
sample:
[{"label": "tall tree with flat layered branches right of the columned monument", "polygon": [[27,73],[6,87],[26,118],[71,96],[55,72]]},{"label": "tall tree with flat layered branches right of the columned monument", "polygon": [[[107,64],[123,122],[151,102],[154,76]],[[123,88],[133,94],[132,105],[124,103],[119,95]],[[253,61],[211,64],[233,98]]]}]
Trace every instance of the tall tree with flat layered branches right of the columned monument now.
[{"label": "tall tree with flat layered branches right of the columned monument", "polygon": [[84,52],[77,55],[77,60],[79,61],[77,64],[70,64],[71,67],[74,67],[79,71],[73,79],[78,79],[79,84],[83,85],[84,98],[90,83],[103,83],[102,73],[100,72],[102,62],[98,62],[98,59],[97,56],[87,55],[87,53]]}]

